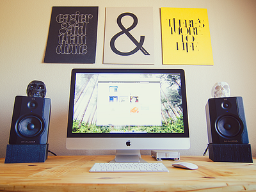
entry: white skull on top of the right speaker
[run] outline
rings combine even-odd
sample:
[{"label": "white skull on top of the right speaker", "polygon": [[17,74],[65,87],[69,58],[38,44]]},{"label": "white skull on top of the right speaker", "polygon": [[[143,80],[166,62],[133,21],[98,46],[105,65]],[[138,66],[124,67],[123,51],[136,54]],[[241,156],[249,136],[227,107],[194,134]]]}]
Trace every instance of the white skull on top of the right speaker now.
[{"label": "white skull on top of the right speaker", "polygon": [[212,97],[229,97],[230,88],[226,82],[218,82],[212,86]]}]

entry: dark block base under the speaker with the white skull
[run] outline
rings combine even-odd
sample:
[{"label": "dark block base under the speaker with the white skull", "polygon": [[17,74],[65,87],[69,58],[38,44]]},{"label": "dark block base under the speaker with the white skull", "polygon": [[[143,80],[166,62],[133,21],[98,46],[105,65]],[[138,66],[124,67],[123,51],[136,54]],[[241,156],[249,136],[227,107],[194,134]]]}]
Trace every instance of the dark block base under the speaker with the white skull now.
[{"label": "dark block base under the speaker with the white skull", "polygon": [[253,163],[250,144],[208,144],[214,162]]}]

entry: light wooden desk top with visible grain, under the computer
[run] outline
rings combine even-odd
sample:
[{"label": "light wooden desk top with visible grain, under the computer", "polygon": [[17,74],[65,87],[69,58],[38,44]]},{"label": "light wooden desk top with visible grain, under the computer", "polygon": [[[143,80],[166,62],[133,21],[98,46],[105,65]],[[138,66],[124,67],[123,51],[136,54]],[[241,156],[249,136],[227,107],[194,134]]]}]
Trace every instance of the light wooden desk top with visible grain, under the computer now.
[{"label": "light wooden desk top with visible grain, under the computer", "polygon": [[[113,156],[49,156],[45,163],[4,164],[0,159],[0,191],[256,191],[256,165],[216,163],[207,156],[182,156],[197,170],[168,173],[89,173],[94,163]],[[148,162],[157,162],[143,156]],[[253,159],[255,161],[255,159]]]}]

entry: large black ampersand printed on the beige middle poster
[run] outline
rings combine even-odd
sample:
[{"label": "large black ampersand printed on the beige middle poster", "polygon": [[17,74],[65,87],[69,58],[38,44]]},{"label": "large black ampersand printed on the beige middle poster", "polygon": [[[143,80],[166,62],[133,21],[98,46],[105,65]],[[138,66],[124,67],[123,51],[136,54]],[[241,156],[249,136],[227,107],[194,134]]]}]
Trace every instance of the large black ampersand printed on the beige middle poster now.
[{"label": "large black ampersand printed on the beige middle poster", "polygon": [[[121,19],[122,17],[124,16],[131,16],[132,19],[133,19],[133,24],[125,29],[125,27],[123,26],[122,22],[121,22]],[[122,31],[120,31],[119,33],[116,33],[116,35],[114,35],[111,40],[110,40],[110,47],[111,47],[111,50],[113,52],[115,52],[116,54],[119,54],[119,55],[122,55],[122,56],[129,56],[131,54],[134,54],[135,52],[137,51],[141,51],[143,52],[143,54],[145,55],[150,55],[146,49],[144,49],[142,47],[143,43],[144,43],[144,40],[145,40],[145,36],[140,36],[140,42],[138,42],[132,35],[131,33],[129,33],[129,31],[131,31],[131,29],[135,28],[136,25],[138,24],[138,18],[136,17],[136,15],[132,14],[132,13],[122,13],[121,15],[119,15],[116,19],[116,22],[119,26],[120,29],[122,29]],[[125,35],[127,35],[129,37],[129,39],[131,39],[131,41],[136,45],[136,47],[130,51],[130,52],[121,52],[121,51],[118,51],[115,47],[115,40],[116,38],[118,38],[118,36],[120,35],[123,35],[125,33]]]}]

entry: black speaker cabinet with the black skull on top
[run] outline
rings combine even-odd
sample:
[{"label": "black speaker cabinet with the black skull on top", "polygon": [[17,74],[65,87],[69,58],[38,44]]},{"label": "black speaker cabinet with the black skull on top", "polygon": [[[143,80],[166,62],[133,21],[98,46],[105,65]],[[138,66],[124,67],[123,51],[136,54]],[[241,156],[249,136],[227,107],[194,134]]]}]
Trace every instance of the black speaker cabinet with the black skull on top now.
[{"label": "black speaker cabinet with the black skull on top", "polygon": [[11,145],[47,144],[51,99],[16,96],[9,143]]}]

